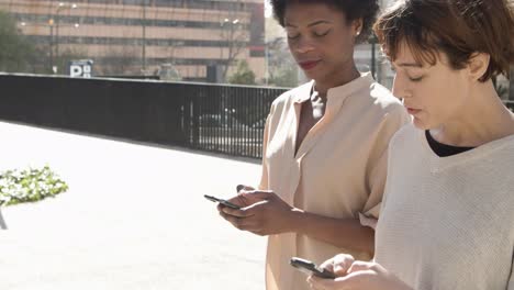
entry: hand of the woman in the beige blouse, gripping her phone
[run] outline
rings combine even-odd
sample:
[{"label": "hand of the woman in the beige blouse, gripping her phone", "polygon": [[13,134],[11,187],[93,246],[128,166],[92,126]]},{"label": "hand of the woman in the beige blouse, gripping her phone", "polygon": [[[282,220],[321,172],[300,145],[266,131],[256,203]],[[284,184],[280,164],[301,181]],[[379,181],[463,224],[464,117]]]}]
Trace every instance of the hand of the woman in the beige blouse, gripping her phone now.
[{"label": "hand of the woman in the beige blouse, gripping her phone", "polygon": [[220,214],[242,231],[257,235],[273,235],[292,231],[294,208],[272,191],[243,191],[241,198],[257,200],[241,210],[220,208]]}]

